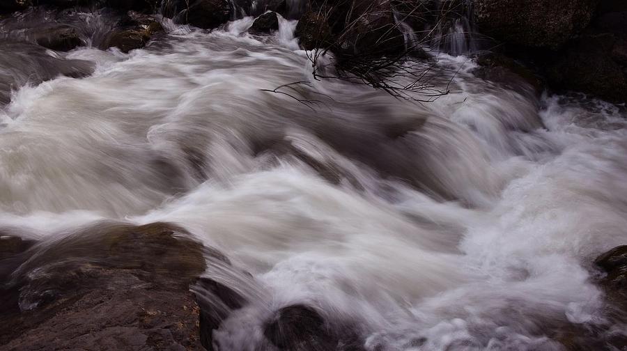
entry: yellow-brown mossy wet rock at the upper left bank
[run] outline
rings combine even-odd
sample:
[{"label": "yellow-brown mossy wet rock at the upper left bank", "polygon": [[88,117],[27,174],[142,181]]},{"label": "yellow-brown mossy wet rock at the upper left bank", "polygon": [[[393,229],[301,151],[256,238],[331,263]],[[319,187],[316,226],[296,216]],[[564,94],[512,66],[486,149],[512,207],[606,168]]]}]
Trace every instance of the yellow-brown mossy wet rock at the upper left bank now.
[{"label": "yellow-brown mossy wet rock at the upper left bank", "polygon": [[101,47],[102,49],[118,47],[121,52],[127,53],[145,47],[156,33],[162,31],[163,27],[154,17],[130,11],[121,20],[120,28],[107,33]]}]

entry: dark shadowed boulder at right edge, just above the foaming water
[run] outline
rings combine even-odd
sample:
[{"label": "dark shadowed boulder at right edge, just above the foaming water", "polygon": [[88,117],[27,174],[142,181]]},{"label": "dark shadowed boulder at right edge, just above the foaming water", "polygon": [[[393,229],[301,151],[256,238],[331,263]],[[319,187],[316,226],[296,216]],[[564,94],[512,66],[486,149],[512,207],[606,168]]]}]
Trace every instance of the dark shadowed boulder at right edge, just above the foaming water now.
[{"label": "dark shadowed boulder at right edge, just above the foaming water", "polygon": [[627,101],[624,68],[612,59],[616,38],[611,34],[584,36],[568,43],[548,65],[549,84],[581,91],[610,102]]}]

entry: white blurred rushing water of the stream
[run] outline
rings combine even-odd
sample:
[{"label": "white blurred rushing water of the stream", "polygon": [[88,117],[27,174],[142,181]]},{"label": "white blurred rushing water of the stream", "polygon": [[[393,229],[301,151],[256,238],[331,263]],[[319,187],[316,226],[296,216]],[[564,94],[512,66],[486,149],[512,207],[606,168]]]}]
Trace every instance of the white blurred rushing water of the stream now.
[{"label": "white blurred rushing water of the stream", "polygon": [[396,100],[314,79],[295,22],[270,38],[251,22],[164,22],[146,49],[54,58],[88,77],[13,86],[0,232],[186,228],[236,267],[207,276],[249,301],[219,350],[272,350],[261,326],[294,304],[366,350],[559,350],[550,328],[614,323],[591,261],[627,242],[624,107],[536,99],[447,54],[449,95]]}]

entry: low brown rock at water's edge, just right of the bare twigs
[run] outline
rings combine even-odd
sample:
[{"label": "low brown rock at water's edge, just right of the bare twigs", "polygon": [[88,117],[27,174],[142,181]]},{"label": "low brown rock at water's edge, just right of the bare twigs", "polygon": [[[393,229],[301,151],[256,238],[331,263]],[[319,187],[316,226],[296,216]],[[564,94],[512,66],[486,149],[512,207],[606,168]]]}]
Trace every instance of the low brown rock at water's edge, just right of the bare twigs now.
[{"label": "low brown rock at water's edge, just right of the bare twigs", "polygon": [[539,95],[544,90],[543,81],[538,75],[525,65],[503,54],[481,54],[476,61],[480,67],[475,68],[472,73],[481,79],[493,81],[519,92],[530,87],[535,95]]}]

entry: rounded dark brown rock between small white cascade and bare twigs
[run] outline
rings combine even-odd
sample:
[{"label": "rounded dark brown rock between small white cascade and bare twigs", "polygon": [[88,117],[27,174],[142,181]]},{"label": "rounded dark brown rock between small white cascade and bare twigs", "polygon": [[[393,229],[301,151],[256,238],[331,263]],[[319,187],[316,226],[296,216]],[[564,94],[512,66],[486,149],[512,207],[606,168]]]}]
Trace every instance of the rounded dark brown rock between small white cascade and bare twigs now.
[{"label": "rounded dark brown rock between small white cascade and bare twigs", "polygon": [[326,48],[334,44],[334,37],[327,19],[320,13],[308,11],[298,21],[295,36],[300,46],[307,50]]}]

